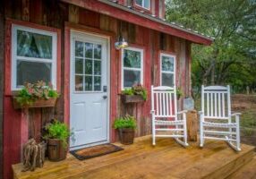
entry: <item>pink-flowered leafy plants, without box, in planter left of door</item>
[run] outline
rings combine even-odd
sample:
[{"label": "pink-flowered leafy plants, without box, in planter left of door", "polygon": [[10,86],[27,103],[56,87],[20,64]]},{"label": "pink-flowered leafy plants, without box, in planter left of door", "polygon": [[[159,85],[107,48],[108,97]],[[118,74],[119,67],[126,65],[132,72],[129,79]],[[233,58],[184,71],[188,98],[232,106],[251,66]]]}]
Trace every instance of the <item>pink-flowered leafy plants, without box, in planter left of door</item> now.
[{"label": "pink-flowered leafy plants, without box, in planter left of door", "polygon": [[21,107],[30,106],[39,98],[49,99],[58,98],[59,94],[53,90],[52,85],[46,84],[45,81],[37,81],[36,83],[25,83],[17,97],[16,101],[20,103]]}]

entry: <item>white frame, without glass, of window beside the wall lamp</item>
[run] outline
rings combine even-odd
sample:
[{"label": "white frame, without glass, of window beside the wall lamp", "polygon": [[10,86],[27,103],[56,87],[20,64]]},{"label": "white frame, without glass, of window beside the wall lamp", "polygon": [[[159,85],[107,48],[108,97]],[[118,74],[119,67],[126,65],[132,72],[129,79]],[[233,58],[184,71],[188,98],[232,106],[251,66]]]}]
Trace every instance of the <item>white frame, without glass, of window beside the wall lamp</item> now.
[{"label": "white frame, without glass, of window beside the wall lamp", "polygon": [[[124,50],[132,50],[132,51],[136,51],[136,52],[141,52],[141,68],[140,70],[138,70],[139,68],[131,68],[131,67],[124,67]],[[121,55],[121,64],[122,64],[122,68],[121,68],[121,76],[122,76],[122,81],[121,81],[121,90],[124,89],[130,89],[132,87],[125,87],[124,88],[124,70],[132,70],[132,71],[140,71],[141,72],[141,85],[143,85],[143,77],[144,77],[144,49],[140,48],[140,47],[126,47],[124,49],[122,49],[122,55]]]}]

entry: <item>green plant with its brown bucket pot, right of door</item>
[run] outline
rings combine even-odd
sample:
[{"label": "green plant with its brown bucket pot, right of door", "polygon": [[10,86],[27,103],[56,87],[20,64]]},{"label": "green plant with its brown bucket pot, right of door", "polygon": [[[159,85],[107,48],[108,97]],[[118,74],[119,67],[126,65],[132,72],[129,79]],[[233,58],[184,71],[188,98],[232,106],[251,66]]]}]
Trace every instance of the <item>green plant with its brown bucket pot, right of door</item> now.
[{"label": "green plant with its brown bucket pot, right of door", "polygon": [[136,120],[131,115],[115,119],[114,128],[118,130],[121,143],[128,145],[133,143]]}]

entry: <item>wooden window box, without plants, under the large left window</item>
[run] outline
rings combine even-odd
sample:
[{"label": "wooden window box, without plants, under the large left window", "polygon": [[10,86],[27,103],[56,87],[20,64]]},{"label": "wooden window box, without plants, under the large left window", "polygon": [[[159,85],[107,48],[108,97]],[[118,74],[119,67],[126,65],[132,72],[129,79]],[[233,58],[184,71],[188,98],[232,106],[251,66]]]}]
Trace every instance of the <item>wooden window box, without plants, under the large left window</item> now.
[{"label": "wooden window box, without plants, under the large left window", "polygon": [[23,106],[17,102],[16,98],[13,98],[13,107],[14,109],[21,109],[21,108],[33,108],[33,107],[55,107],[57,98],[49,98],[49,99],[38,99],[32,105]]}]

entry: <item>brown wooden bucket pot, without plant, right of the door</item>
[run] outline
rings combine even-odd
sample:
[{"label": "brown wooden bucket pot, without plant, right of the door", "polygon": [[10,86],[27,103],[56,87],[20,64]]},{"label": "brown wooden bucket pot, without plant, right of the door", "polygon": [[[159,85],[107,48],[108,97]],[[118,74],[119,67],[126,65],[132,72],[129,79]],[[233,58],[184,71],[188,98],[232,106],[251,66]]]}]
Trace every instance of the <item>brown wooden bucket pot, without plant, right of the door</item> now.
[{"label": "brown wooden bucket pot, without plant, right of the door", "polygon": [[124,145],[129,145],[133,143],[134,140],[134,129],[122,128],[118,130],[119,140]]}]

